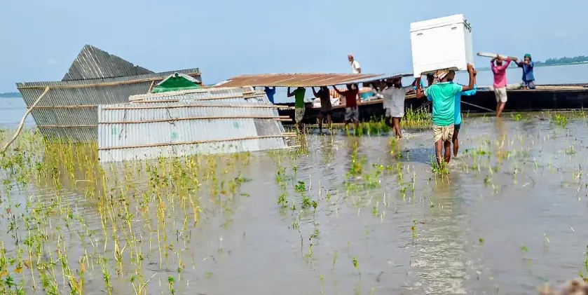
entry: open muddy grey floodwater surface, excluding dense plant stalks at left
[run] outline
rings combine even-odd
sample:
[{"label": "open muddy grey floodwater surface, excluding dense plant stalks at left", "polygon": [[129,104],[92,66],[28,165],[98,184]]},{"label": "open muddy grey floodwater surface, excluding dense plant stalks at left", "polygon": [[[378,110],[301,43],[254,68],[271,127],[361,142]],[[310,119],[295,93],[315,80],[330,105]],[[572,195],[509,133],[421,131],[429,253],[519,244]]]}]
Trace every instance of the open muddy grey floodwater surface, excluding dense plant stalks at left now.
[{"label": "open muddy grey floodwater surface, excluding dense plant stalks at left", "polygon": [[[390,153],[388,136],[308,135],[308,153],[301,156],[254,153],[236,168],[251,179],[240,194],[218,205],[200,193],[196,225],[187,222],[180,231],[191,212],[170,207],[167,238],[175,254],[161,267],[156,236],[145,226],[156,218],[136,214],[148,294],[170,294],[168,276],[175,278],[175,294],[535,294],[540,284],[577,277],[587,259],[587,127],[584,119],[566,128],[538,118],[467,119],[460,156],[446,176],[431,172],[429,130],[406,131],[399,158]],[[364,164],[351,176],[354,150]],[[278,205],[276,181],[282,168],[285,208]],[[109,177],[146,191],[145,174],[124,179],[118,171]],[[294,190],[299,181],[316,210],[302,209],[303,197]],[[95,231],[90,240],[100,246],[87,246],[90,256],[110,257],[114,269],[111,232],[104,235],[100,212],[83,197],[92,186],[64,184],[61,194]],[[13,188],[10,204],[31,195],[50,203],[55,189],[50,181]],[[48,245],[64,225],[59,214],[52,219]],[[86,228],[73,224],[59,231],[76,270],[84,255],[78,233]],[[11,256],[14,240],[6,227],[3,221],[0,235]],[[178,257],[186,264],[181,275]],[[129,275],[135,270],[129,256],[123,261],[121,275],[111,270],[112,294],[135,294]],[[83,294],[107,294],[94,264]],[[27,282],[27,294],[46,293],[32,291],[30,277],[18,280]],[[66,286],[60,291],[69,294]]]}]

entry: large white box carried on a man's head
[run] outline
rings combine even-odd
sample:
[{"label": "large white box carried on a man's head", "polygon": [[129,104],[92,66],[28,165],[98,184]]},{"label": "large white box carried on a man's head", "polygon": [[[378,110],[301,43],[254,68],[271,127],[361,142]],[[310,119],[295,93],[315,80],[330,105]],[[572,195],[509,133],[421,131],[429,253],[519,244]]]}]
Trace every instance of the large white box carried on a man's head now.
[{"label": "large white box carried on a man's head", "polygon": [[461,14],[411,23],[411,47],[415,77],[474,64],[472,27]]}]

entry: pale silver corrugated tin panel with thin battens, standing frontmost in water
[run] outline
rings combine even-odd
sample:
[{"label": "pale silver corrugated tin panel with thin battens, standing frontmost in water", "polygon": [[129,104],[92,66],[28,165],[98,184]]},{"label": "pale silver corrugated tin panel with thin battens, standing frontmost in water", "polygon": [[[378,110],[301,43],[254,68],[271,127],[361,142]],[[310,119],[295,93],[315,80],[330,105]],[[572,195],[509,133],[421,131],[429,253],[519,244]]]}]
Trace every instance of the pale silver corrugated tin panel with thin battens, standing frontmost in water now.
[{"label": "pale silver corrugated tin panel with thin battens, standing frontmost in water", "polygon": [[100,105],[100,161],[285,148],[277,109],[261,106],[198,100]]}]

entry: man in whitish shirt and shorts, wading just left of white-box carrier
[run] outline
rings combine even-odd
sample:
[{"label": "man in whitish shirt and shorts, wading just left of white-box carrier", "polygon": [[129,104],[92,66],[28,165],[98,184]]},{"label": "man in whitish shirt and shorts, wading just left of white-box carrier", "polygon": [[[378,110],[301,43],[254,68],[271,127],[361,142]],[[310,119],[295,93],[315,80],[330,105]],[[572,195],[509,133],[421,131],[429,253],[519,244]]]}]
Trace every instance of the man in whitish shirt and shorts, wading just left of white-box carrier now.
[{"label": "man in whitish shirt and shorts, wading just left of white-box carrier", "polygon": [[[402,87],[402,79],[396,77],[390,83],[387,83],[386,86],[382,91],[382,95],[384,96],[385,123],[394,130],[396,139],[401,139],[402,130],[400,130],[400,120],[404,117],[404,100],[406,99],[406,92],[412,89],[412,85]],[[390,119],[392,119],[392,122],[390,122]]]}]

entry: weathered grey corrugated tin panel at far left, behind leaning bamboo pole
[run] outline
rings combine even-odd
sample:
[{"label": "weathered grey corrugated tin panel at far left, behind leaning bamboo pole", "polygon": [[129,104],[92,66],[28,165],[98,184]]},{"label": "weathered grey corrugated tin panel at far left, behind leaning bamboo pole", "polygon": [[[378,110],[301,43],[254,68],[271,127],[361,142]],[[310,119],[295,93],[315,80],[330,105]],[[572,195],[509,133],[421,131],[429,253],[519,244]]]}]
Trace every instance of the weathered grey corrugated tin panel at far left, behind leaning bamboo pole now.
[{"label": "weathered grey corrugated tin panel at far left, behind leaning bamboo pole", "polygon": [[[17,83],[17,87],[27,107],[39,98],[45,87],[51,88],[31,112],[39,130],[48,139],[95,142],[98,104],[128,102],[130,95],[145,93],[153,81],[175,72],[83,81]],[[177,72],[200,77],[198,69]]]}]

